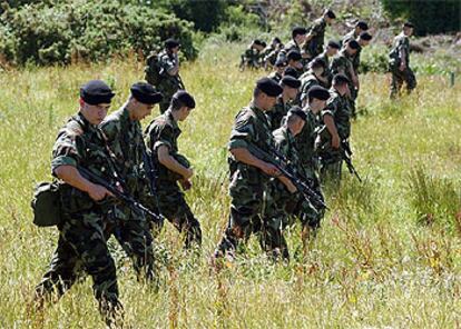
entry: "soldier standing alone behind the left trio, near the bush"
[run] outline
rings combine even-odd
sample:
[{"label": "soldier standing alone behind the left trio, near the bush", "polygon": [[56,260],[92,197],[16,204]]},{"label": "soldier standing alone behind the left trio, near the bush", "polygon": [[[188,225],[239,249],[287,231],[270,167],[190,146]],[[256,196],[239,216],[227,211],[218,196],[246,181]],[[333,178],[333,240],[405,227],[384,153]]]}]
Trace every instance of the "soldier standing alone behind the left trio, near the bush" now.
[{"label": "soldier standing alone behind the left trio, near the bush", "polygon": [[158,54],[160,71],[159,82],[156,87],[163,94],[160,113],[164,113],[168,109],[171,97],[176,91],[186,89],[179,76],[179,41],[167,39],[164,51]]}]

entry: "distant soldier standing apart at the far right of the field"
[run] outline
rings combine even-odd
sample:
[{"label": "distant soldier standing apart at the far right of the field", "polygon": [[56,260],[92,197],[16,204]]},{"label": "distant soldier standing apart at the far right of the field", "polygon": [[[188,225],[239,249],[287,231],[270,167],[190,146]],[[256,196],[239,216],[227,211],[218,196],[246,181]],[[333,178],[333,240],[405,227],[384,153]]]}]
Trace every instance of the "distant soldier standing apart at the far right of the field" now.
[{"label": "distant soldier standing apart at the far right of the field", "polygon": [[410,69],[410,37],[414,26],[405,22],[402,32],[394,38],[393,47],[389,53],[389,70],[392,73],[391,99],[400,94],[403,82],[406,83],[406,92],[416,88],[416,78]]}]

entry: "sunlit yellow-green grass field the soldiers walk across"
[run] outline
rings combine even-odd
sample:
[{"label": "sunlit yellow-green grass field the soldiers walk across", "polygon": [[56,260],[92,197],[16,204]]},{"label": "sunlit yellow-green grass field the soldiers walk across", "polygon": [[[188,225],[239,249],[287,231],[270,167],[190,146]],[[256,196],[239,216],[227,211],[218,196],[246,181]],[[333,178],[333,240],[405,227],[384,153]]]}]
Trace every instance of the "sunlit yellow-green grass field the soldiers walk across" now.
[{"label": "sunlit yellow-green grass field the soldiers walk across", "polygon": [[[461,316],[461,84],[420,77],[418,91],[388,100],[388,78],[362,77],[352,147],[360,185],[349,173],[303,258],[300,229],[288,230],[293,261],[272,263],[256,239],[219,275],[208,257],[225,227],[226,143],[233,118],[263,72],[237,70],[242,48],[209,46],[183,78],[197,108],[182,124],[179,148],[196,168],[187,199],[204,230],[202,256],[180,250],[167,225],[158,239],[168,258],[155,293],[138,283],[117,250],[119,286],[133,328],[453,328]],[[43,318],[28,305],[56,248],[57,230],[32,225],[36,182],[50,179],[56,133],[78,107],[78,87],[114,83],[114,109],[143,78],[133,61],[42,68],[0,76],[0,327],[102,328],[90,279]],[[144,122],[144,124],[147,123]],[[431,213],[430,220],[421,216]]]}]

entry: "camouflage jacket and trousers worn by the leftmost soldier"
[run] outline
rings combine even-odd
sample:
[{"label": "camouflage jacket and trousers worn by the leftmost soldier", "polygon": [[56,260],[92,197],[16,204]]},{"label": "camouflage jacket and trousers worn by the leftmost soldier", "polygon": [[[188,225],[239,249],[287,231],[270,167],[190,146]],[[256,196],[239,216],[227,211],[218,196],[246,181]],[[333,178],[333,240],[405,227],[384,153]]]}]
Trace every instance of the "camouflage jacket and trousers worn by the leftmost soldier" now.
[{"label": "camouflage jacket and trousers worn by the leftmost soldier", "polygon": [[[51,170],[60,166],[81,166],[115,183],[112,156],[102,132],[81,113],[70,118],[59,131],[52,151]],[[95,297],[106,321],[121,308],[118,300],[116,267],[107,247],[108,227],[114,223],[114,202],[95,202],[88,193],[61,182],[59,240],[50,268],[36,287],[39,298],[58,297],[76,282],[82,270],[91,276]]]}]

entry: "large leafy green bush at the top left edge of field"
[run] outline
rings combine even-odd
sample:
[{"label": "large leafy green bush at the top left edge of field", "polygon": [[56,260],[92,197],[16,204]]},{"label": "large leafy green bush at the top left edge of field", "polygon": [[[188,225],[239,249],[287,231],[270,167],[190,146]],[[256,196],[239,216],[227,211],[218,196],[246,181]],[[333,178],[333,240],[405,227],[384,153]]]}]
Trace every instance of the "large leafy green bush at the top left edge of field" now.
[{"label": "large leafy green bush at the top left edge of field", "polygon": [[193,23],[147,6],[122,6],[120,0],[57,0],[53,4],[7,8],[1,23],[0,53],[17,64],[146,56],[170,37],[182,41],[186,59],[197,56],[192,41]]}]

